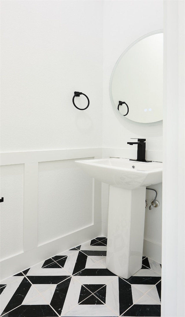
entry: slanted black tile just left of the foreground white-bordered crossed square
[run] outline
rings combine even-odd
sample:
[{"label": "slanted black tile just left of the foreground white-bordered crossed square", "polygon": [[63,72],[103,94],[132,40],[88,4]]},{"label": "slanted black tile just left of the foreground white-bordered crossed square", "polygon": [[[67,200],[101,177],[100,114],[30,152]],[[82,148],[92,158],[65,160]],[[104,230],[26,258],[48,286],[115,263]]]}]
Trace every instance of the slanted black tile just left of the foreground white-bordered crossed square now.
[{"label": "slanted black tile just left of the foreground white-bordered crossed square", "polygon": [[[66,299],[67,291],[69,288],[69,284],[71,281],[71,277],[68,278],[66,281],[61,282],[57,285],[52,300],[50,302],[50,305],[53,307],[53,309],[60,315],[61,310],[64,306],[64,302]],[[50,316],[50,315],[48,315]]]}]

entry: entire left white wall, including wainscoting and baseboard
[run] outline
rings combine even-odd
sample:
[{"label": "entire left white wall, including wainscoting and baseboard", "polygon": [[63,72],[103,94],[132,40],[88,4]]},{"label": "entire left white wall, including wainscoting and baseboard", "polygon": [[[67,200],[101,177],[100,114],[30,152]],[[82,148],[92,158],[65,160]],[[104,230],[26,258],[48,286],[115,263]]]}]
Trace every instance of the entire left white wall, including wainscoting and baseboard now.
[{"label": "entire left white wall, including wainscoting and baseboard", "polygon": [[2,278],[101,234],[101,184],[74,160],[102,152],[102,16],[102,1],[1,2]]}]

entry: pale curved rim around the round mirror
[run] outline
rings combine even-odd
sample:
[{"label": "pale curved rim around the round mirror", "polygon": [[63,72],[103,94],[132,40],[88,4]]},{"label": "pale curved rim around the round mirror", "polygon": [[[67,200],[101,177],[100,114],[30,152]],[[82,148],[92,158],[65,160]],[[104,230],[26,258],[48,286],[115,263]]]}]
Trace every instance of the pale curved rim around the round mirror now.
[{"label": "pale curved rim around the round mirror", "polygon": [[[111,79],[110,79],[110,84],[109,84],[109,95],[110,95],[110,100],[112,103],[112,107],[114,109],[114,111],[125,121],[134,124],[134,125],[140,125],[140,126],[155,126],[155,125],[159,125],[162,124],[163,120],[159,120],[159,121],[155,121],[155,122],[137,122],[137,121],[133,121],[131,119],[129,119],[128,117],[124,116],[119,110],[118,110],[118,105],[115,104],[114,100],[113,100],[113,95],[112,95],[112,81],[113,81],[113,76],[115,74],[115,71],[118,67],[119,62],[122,60],[123,56],[138,42],[140,42],[141,40],[151,36],[151,35],[155,35],[155,34],[159,34],[159,33],[163,33],[163,30],[156,30],[150,33],[145,34],[144,36],[138,38],[136,41],[134,41],[131,45],[129,45],[129,47],[127,49],[125,49],[125,51],[121,54],[121,56],[119,57],[118,61],[116,62],[112,74],[111,74]],[[120,99],[119,99],[120,100]],[[124,100],[126,102],[126,100]],[[129,105],[128,105],[129,106]]]}]

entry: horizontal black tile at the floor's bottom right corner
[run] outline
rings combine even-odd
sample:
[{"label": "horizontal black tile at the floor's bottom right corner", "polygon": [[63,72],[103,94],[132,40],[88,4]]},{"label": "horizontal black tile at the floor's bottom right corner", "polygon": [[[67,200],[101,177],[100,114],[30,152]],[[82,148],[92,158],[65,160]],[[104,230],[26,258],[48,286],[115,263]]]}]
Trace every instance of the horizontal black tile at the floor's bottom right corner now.
[{"label": "horizontal black tile at the floor's bottom right corner", "polygon": [[161,305],[133,305],[122,316],[161,316]]}]

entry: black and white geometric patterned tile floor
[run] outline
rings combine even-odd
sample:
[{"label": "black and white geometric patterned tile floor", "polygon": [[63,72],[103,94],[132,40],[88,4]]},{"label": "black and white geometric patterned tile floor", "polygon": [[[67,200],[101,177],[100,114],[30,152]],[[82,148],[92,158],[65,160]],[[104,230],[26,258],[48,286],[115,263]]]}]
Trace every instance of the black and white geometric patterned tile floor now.
[{"label": "black and white geometric patterned tile floor", "polygon": [[105,259],[100,236],[11,276],[0,286],[1,316],[160,316],[161,265],[143,257],[123,279]]}]

